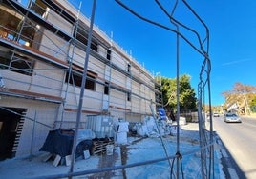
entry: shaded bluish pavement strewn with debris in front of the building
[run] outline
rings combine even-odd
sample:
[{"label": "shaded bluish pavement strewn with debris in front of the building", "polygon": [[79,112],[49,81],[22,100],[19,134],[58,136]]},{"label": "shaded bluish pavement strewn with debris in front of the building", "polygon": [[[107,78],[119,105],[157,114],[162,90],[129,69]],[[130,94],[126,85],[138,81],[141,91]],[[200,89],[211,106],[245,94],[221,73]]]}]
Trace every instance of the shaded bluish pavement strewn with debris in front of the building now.
[{"label": "shaded bluish pavement strewn with debris in front of the building", "polygon": [[[182,167],[185,178],[198,178],[201,175],[200,146],[198,136],[198,123],[189,123],[181,127],[181,154]],[[140,137],[141,138],[141,137]],[[168,156],[174,156],[177,149],[177,138],[168,135],[162,138]],[[88,159],[81,159],[75,162],[74,171],[80,172],[92,169],[115,168],[139,164],[139,166],[126,167],[125,169],[112,169],[97,174],[94,177],[101,177],[107,174],[109,178],[169,178],[170,165],[166,160],[149,162],[165,158],[166,153],[159,137],[128,137],[128,144],[116,146],[113,155],[94,155]],[[146,163],[141,165],[141,163]],[[215,157],[215,176],[222,177],[219,167],[220,160]],[[34,156],[32,160],[9,159],[0,162],[0,176],[3,178],[46,178],[56,174],[66,174],[70,167],[65,165],[53,166],[53,162],[43,162],[40,155]],[[175,169],[174,169],[175,172]],[[81,176],[79,177],[81,178]],[[90,178],[90,177],[89,177]]]}]

